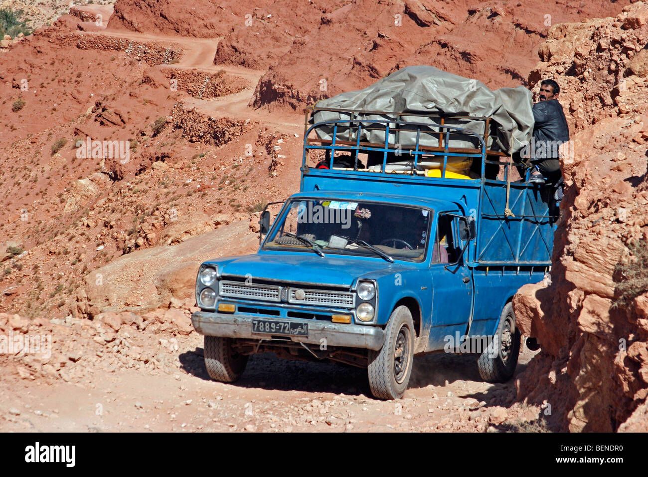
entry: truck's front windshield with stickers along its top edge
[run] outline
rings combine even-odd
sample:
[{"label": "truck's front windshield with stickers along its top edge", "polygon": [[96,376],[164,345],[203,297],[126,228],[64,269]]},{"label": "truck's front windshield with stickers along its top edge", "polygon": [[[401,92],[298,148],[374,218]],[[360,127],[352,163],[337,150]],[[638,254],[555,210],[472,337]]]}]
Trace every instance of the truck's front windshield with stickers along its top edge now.
[{"label": "truck's front windshield with stickers along its top edge", "polygon": [[264,249],[421,262],[432,211],[382,202],[299,199],[277,220]]}]

